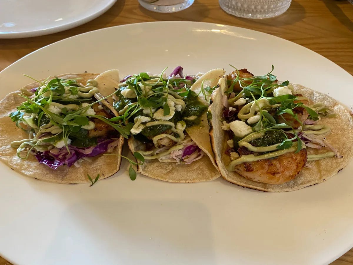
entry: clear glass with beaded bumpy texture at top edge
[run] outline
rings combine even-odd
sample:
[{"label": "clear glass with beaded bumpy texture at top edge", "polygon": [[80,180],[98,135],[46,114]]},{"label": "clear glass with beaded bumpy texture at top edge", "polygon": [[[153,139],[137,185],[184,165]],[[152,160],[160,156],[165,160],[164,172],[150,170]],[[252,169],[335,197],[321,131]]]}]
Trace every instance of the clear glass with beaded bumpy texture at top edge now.
[{"label": "clear glass with beaded bumpy texture at top edge", "polygon": [[244,18],[269,18],[279,16],[291,5],[292,0],[219,0],[228,14]]}]

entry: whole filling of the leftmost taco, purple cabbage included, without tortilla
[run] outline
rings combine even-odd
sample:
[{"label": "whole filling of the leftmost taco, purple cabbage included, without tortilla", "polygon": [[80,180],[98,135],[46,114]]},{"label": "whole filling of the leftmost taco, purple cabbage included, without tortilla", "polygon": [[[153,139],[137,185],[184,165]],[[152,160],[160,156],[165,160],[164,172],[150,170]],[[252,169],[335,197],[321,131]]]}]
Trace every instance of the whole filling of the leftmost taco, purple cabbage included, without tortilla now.
[{"label": "whole filling of the leftmost taco, purple cabbage included, without tortilla", "polygon": [[51,169],[91,161],[110,153],[120,145],[120,134],[127,137],[124,126],[111,121],[114,117],[94,98],[99,91],[96,80],[85,85],[79,79],[55,77],[39,82],[36,88],[21,89],[24,102],[10,114],[16,126],[28,138],[11,142],[17,156],[35,156]]}]

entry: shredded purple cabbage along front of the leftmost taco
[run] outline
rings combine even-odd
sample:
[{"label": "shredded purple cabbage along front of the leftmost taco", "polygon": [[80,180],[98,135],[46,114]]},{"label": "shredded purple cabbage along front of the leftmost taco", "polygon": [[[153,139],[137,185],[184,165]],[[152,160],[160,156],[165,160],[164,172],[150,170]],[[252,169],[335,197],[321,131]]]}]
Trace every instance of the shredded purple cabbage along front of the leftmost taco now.
[{"label": "shredded purple cabbage along front of the leftmost taco", "polygon": [[67,167],[72,166],[77,160],[83,157],[95,157],[96,155],[103,154],[107,152],[108,145],[114,140],[108,139],[99,142],[94,147],[79,148],[76,146],[69,145],[68,149],[70,153],[67,152],[66,147],[62,147],[58,152],[37,152],[35,157],[38,162],[49,166],[51,169],[57,169],[59,166],[67,165]]}]

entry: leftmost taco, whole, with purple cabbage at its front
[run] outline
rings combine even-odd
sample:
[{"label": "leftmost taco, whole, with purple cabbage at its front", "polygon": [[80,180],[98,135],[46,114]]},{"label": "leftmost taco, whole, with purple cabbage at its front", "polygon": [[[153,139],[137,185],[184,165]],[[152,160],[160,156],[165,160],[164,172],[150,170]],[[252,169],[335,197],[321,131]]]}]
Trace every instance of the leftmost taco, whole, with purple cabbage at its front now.
[{"label": "leftmost taco, whole, with purple cabbage at its front", "polygon": [[112,176],[120,169],[127,134],[110,120],[115,110],[103,97],[119,80],[118,70],[64,74],[8,94],[0,102],[0,159],[48,182],[85,183],[88,175]]}]

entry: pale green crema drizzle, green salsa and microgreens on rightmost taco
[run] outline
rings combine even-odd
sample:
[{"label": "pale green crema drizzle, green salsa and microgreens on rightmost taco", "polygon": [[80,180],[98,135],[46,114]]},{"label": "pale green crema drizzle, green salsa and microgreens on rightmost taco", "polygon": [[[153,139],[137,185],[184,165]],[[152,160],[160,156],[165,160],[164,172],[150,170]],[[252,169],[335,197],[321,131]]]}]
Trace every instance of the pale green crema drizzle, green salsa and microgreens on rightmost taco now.
[{"label": "pale green crema drizzle, green salsa and microgreens on rightmost taco", "polygon": [[[273,69],[274,67],[272,66],[272,71]],[[238,70],[236,69],[236,71]],[[239,78],[238,71],[237,78],[233,82],[230,83],[229,81],[227,81],[229,88],[226,91],[226,95],[228,96],[229,106],[237,107],[245,104],[238,112],[238,119],[245,122],[249,118],[256,116],[256,120],[258,120],[255,123],[251,124],[248,122],[248,124],[252,126],[252,133],[246,135],[243,138],[237,136],[234,137],[234,149],[236,150],[235,147],[244,146],[249,151],[259,153],[259,155],[248,154],[240,156],[237,153],[235,155],[235,159],[234,157],[232,158],[231,155],[232,161],[228,165],[229,171],[235,171],[235,166],[244,162],[253,162],[261,159],[275,158],[289,152],[298,153],[301,149],[306,148],[305,144],[300,140],[298,133],[301,133],[301,135],[321,135],[330,131],[330,127],[327,125],[303,124],[298,119],[297,114],[293,112],[293,109],[296,107],[305,108],[305,110],[307,110],[307,112],[309,113],[309,119],[315,121],[319,120],[320,116],[328,118],[335,117],[335,113],[333,113],[333,111],[327,108],[322,102],[316,103],[311,107],[306,106],[305,104],[300,102],[300,100],[308,100],[308,98],[303,96],[292,95],[294,92],[294,88],[291,84],[289,84],[289,81],[277,84],[277,82],[275,82],[276,76],[272,75],[271,72],[264,76]],[[233,88],[235,83],[239,83],[242,90],[238,94],[233,96],[233,98],[229,98],[230,94],[234,92]],[[280,87],[289,88],[292,93],[280,96],[273,96],[273,90]],[[238,104],[239,99],[241,98],[246,99],[246,102],[244,102],[243,100],[243,104]],[[277,117],[280,116],[284,120],[285,118],[282,116],[282,114],[287,113],[292,116],[294,120],[298,121],[301,126],[299,127],[299,129],[293,129],[292,126],[286,124],[286,120],[285,123],[277,123],[278,119],[275,119],[269,112],[275,112]],[[226,122],[223,122],[223,126],[227,125],[225,123]],[[283,129],[287,130],[285,131]],[[288,131],[288,129],[290,130]],[[286,135],[286,133],[288,132],[293,133],[294,137],[288,139],[288,136]],[[275,143],[268,145],[267,142],[263,141],[263,137],[265,137],[266,134],[275,133],[276,136],[272,136],[272,139],[275,139]],[[256,146],[252,145],[252,143]],[[334,152],[308,154],[307,161],[329,158],[333,157],[334,155]]]}]

